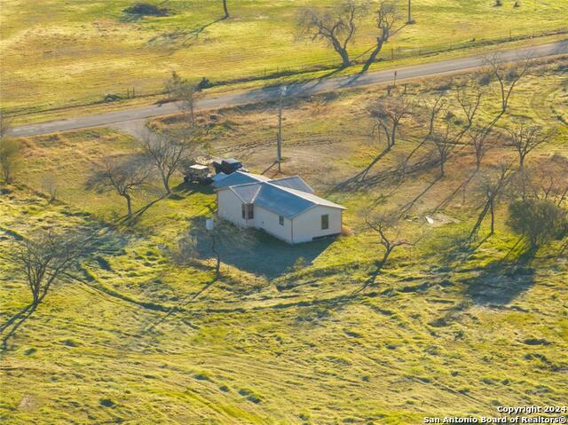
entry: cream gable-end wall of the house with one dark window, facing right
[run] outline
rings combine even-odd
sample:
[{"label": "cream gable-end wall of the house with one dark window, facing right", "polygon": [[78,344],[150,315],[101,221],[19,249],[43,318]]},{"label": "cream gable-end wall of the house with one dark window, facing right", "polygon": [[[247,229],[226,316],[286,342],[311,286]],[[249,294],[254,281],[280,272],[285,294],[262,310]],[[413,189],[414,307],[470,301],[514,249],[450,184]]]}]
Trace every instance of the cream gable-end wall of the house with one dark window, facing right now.
[{"label": "cream gable-end wall of the house with one dark window, facing right", "polygon": [[[321,216],[329,216],[329,228],[321,229]],[[341,233],[342,210],[318,205],[304,214],[294,217],[294,240],[292,243],[309,242],[313,238]]]}]

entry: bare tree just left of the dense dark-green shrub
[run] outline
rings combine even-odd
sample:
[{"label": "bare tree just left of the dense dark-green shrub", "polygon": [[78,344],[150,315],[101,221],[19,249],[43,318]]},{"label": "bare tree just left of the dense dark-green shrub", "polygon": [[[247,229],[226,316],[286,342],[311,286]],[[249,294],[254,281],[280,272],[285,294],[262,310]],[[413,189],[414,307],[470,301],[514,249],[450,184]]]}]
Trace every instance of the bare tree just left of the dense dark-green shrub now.
[{"label": "bare tree just left of the dense dark-green shrub", "polygon": [[511,170],[508,164],[501,163],[496,169],[491,169],[479,177],[477,183],[477,193],[481,195],[484,207],[477,217],[477,222],[469,233],[469,240],[477,238],[477,233],[483,224],[487,213],[491,214],[490,234],[495,232],[495,206],[503,195],[507,185],[509,185]]}]

